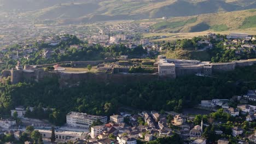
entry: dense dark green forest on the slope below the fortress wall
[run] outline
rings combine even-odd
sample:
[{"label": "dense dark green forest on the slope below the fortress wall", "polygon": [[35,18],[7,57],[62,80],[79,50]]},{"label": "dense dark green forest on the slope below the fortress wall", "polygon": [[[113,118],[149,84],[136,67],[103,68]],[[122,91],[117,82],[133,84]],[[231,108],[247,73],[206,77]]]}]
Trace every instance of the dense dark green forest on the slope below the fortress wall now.
[{"label": "dense dark green forest on the slope below the fortress wall", "polygon": [[[256,65],[238,68],[214,77],[184,76],[175,80],[97,83],[86,81],[77,87],[60,88],[57,79],[45,79],[38,83],[1,84],[0,113],[10,115],[15,106],[38,106],[54,108],[39,118],[48,118],[60,125],[65,123],[69,111],[92,115],[111,115],[119,107],[137,110],[167,110],[181,112],[193,107],[200,100],[228,99],[256,88]],[[141,105],[143,103],[143,105]],[[43,105],[42,105],[43,104]],[[37,117],[36,114],[30,117]]]}]

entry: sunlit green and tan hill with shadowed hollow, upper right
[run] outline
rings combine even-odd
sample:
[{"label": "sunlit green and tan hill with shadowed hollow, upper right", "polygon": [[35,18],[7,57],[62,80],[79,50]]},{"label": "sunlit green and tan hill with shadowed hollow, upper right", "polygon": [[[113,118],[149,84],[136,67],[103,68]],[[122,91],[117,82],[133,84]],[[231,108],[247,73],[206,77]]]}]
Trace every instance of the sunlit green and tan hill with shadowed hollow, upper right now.
[{"label": "sunlit green and tan hill with shadowed hollow, upper right", "polygon": [[141,20],[143,23],[152,21],[152,31],[165,32],[202,32],[202,31],[231,31],[256,27],[256,9],[232,11],[228,13],[202,14],[195,16],[170,17],[162,19]]}]

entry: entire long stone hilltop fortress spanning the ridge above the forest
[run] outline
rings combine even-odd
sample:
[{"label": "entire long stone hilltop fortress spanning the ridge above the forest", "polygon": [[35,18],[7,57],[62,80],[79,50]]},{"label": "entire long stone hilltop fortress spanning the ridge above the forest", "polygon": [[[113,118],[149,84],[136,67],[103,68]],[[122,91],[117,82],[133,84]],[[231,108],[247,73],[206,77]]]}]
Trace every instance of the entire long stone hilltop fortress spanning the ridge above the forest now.
[{"label": "entire long stone hilltop fortress spanning the ridge above the forest", "polygon": [[[118,63],[118,59],[111,61]],[[87,67],[87,65],[100,65],[102,63],[109,63],[109,61],[83,61],[83,62],[60,62],[55,64],[72,64],[74,67]],[[42,67],[53,66],[55,64],[44,65],[25,65],[24,68],[18,63],[15,68],[11,70],[4,70],[2,72],[1,81],[15,84],[19,82],[42,81],[45,77],[55,77],[59,80],[61,85],[72,86],[79,85],[83,81],[97,81],[97,82],[136,82],[149,80],[165,80],[175,79],[184,75],[212,75],[216,72],[235,70],[236,67],[246,67],[256,64],[256,59],[247,59],[240,61],[232,61],[228,63],[211,63],[201,62],[197,60],[184,59],[166,59],[165,56],[158,56],[154,63],[155,73],[127,73],[129,67],[100,67],[101,69],[108,69],[108,73],[97,72],[88,73],[86,71],[45,71]],[[100,69],[98,68],[98,69]]]}]

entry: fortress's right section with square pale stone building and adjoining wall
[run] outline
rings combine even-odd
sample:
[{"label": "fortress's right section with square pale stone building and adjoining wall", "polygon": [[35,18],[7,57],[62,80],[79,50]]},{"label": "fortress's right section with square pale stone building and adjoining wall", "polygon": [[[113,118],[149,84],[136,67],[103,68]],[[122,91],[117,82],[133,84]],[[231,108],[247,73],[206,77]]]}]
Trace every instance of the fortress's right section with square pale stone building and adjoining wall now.
[{"label": "fortress's right section with square pale stone building and adjoining wall", "polygon": [[245,67],[254,64],[256,64],[256,59],[211,63],[197,60],[166,59],[165,56],[158,56],[158,62],[155,63],[155,65],[158,65],[160,77],[171,78],[191,74],[212,75],[216,72],[235,70],[236,67]]}]

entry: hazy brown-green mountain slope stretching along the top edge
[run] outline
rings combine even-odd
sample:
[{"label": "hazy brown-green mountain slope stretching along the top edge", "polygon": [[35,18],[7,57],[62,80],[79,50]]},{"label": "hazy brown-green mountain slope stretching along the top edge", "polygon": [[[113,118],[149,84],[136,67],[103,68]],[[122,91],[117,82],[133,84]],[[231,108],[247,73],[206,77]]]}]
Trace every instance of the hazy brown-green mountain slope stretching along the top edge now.
[{"label": "hazy brown-green mountain slope stretching along the top edge", "polygon": [[[38,20],[95,22],[105,20],[155,19],[256,8],[253,0],[0,0],[0,9],[24,11]],[[1,11],[0,10],[0,11]],[[69,20],[70,19],[70,20]]]}]

